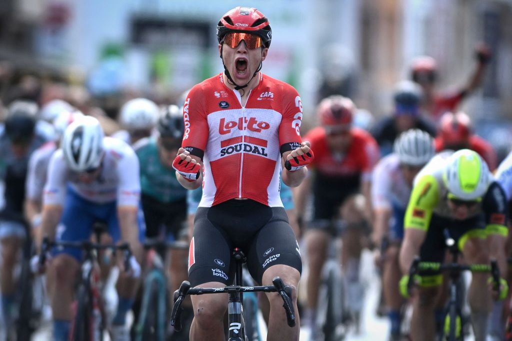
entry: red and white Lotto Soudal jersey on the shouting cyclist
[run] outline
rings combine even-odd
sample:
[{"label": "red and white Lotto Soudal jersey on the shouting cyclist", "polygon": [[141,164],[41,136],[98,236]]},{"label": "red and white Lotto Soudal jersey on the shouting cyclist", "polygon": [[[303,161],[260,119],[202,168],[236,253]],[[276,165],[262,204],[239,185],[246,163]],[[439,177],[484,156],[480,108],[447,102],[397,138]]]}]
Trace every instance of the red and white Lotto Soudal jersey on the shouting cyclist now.
[{"label": "red and white Lotto Soudal jersey on the shouting cyclist", "polygon": [[186,98],[182,146],[203,158],[200,207],[233,198],[283,206],[281,153],[301,144],[301,98],[291,85],[260,73],[247,103],[241,103],[222,74],[197,84]]}]

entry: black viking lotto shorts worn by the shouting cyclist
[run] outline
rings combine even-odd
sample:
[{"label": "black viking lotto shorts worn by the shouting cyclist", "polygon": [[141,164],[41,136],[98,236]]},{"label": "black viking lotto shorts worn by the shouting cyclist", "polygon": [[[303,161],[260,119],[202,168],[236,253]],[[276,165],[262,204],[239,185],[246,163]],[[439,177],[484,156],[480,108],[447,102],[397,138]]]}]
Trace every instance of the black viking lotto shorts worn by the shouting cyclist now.
[{"label": "black viking lotto shorts worn by the shouting cyclist", "polygon": [[284,208],[231,199],[200,207],[196,213],[188,259],[190,283],[232,284],[235,247],[247,257],[247,268],[259,284],[272,265],[285,264],[302,272],[300,250]]}]

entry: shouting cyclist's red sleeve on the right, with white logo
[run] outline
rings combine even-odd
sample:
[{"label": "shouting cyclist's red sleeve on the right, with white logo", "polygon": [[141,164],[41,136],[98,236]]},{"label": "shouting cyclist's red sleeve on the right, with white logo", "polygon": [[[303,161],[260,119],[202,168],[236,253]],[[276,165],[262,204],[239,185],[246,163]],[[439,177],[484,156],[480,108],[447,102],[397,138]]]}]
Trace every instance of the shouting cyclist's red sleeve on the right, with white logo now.
[{"label": "shouting cyclist's red sleeve on the right, with white logo", "polygon": [[302,101],[292,86],[283,89],[283,111],[279,125],[279,145],[283,154],[301,146]]}]

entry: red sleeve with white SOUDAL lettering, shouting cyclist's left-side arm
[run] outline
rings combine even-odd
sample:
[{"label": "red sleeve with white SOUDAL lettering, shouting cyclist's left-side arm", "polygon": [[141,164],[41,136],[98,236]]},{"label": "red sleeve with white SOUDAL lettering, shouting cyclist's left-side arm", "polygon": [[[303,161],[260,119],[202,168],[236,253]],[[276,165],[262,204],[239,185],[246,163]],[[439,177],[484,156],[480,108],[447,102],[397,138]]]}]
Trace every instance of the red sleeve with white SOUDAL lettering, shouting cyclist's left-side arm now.
[{"label": "red sleeve with white SOUDAL lettering, shouting cyclist's left-side arm", "polygon": [[187,95],[183,105],[183,122],[185,132],[181,146],[190,154],[204,156],[208,142],[208,118],[204,102],[203,89],[200,84],[194,86]]}]

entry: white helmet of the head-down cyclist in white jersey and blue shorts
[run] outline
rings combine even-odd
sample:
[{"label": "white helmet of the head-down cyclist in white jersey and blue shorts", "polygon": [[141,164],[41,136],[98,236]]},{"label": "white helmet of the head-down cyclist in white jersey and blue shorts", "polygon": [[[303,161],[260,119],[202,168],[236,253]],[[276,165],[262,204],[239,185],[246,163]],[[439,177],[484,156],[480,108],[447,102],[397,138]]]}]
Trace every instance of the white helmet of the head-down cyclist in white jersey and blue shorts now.
[{"label": "white helmet of the head-down cyclist in white jersey and blue shorts", "polygon": [[103,136],[99,121],[92,116],[71,123],[60,144],[68,167],[75,172],[98,168],[104,154]]}]

